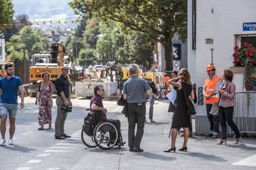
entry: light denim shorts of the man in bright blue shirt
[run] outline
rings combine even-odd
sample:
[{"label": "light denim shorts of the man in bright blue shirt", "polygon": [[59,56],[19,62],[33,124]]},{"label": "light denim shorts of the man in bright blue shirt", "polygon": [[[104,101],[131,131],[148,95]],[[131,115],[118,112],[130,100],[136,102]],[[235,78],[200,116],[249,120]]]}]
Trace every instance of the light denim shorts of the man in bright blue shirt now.
[{"label": "light denim shorts of the man in bright blue shirt", "polygon": [[9,119],[15,119],[17,111],[18,111],[18,104],[0,103],[0,117],[1,116],[8,117],[7,113],[9,113]]}]

